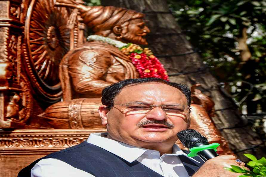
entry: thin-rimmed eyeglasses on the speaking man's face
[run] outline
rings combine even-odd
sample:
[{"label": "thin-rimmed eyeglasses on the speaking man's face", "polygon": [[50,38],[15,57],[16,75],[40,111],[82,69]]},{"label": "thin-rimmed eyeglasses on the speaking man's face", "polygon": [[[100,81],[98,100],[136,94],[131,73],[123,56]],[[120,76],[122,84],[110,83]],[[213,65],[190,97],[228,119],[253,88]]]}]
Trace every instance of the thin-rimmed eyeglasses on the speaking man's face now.
[{"label": "thin-rimmed eyeglasses on the speaking man's face", "polygon": [[[134,114],[146,114],[151,111],[154,107],[160,107],[166,114],[168,115],[176,115],[176,114],[187,114],[190,112],[188,105],[180,105],[180,104],[169,104],[169,105],[150,105],[148,103],[137,103],[137,102],[129,102],[126,104],[113,104],[120,105],[123,108],[123,111],[132,112]],[[107,105],[107,106],[113,106]]]}]

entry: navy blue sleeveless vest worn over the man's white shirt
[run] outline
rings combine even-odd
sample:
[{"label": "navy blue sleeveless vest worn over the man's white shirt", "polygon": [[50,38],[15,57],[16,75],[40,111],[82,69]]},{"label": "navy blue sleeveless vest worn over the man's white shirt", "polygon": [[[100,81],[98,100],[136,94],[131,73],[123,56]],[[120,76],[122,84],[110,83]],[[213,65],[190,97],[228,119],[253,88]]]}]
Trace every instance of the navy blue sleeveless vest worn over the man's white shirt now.
[{"label": "navy blue sleeveless vest worn over the man's white shirt", "polygon": [[[72,167],[86,171],[96,177],[162,177],[136,160],[129,163],[119,156],[86,141],[79,145],[51,153],[41,159],[47,158],[59,159],[70,164]],[[192,176],[204,163],[198,156],[194,157],[194,159],[201,162],[200,164],[194,163],[184,155],[179,156],[179,158],[183,162],[189,176]],[[41,159],[23,168],[18,173],[18,177],[30,177],[30,170]]]}]

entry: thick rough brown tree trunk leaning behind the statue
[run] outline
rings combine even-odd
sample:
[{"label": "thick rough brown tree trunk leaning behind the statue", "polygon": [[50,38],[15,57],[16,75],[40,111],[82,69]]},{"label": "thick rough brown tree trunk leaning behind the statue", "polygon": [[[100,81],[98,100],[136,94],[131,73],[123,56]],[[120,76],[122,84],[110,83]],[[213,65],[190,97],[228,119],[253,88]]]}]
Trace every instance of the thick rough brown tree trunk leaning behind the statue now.
[{"label": "thick rough brown tree trunk leaning behind the statue", "polygon": [[149,48],[166,68],[171,82],[192,86],[201,84],[200,90],[215,102],[212,117],[216,127],[229,142],[230,148],[243,161],[243,153],[265,156],[265,146],[258,134],[239,111],[218,81],[210,74],[176,23],[164,0],[101,0],[103,6],[126,7],[144,13],[151,33],[147,35]]}]

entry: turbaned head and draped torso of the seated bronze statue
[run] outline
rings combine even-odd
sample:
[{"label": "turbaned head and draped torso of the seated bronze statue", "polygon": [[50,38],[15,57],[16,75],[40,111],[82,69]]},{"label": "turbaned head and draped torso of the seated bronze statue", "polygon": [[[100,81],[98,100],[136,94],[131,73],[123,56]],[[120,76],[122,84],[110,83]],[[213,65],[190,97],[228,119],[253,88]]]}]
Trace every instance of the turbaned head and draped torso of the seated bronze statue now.
[{"label": "turbaned head and draped torso of the seated bronze statue", "polygon": [[[147,44],[144,36],[149,33],[149,28],[143,22],[142,13],[120,7],[87,7],[78,3],[71,5],[79,9],[83,23],[95,35],[122,42]],[[61,61],[59,74],[64,100],[100,98],[104,87],[123,79],[138,77],[127,55],[117,47],[97,40],[70,50]]]}]

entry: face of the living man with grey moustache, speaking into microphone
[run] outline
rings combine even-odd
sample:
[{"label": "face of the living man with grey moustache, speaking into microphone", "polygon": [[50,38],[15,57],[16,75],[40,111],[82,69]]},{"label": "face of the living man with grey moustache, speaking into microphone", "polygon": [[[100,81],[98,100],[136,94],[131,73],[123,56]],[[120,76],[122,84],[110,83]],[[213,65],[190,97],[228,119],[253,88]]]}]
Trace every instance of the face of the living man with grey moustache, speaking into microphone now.
[{"label": "face of the living man with grey moustache, speaking into microphone", "polygon": [[[180,90],[163,83],[142,83],[123,88],[114,104],[129,102],[187,105],[186,97]],[[177,141],[176,134],[188,126],[188,114],[167,115],[161,107],[154,107],[146,114],[134,114],[123,111],[122,107],[114,105],[106,114],[107,130],[113,139],[130,145],[146,147],[161,142],[174,144]],[[149,124],[145,125],[147,121]]]}]

